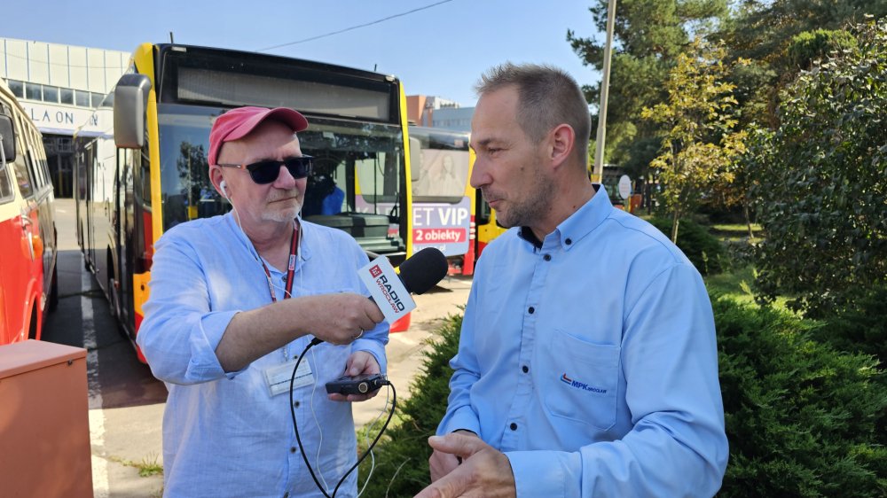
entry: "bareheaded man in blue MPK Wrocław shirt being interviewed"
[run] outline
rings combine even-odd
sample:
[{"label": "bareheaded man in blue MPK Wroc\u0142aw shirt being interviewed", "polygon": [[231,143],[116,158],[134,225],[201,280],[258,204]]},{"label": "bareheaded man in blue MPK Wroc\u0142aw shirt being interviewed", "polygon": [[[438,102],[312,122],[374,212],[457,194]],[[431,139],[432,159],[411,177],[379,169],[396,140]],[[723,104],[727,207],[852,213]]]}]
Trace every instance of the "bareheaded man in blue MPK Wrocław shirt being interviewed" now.
[{"label": "bareheaded man in blue MPK Wroc\u0142aw shirt being interviewed", "polygon": [[514,228],[475,268],[420,498],[712,496],[728,451],[702,278],[589,181],[568,74],[506,64],[477,89],[471,184]]}]

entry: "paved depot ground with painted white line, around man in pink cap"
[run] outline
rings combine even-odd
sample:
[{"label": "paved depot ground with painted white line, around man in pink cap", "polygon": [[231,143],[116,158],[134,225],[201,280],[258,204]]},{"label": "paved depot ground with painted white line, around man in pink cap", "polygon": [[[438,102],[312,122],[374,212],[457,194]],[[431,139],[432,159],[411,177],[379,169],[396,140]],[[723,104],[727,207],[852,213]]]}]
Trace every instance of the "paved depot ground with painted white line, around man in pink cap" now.
[{"label": "paved depot ground with painted white line, around man in pink cap", "polygon": [[[43,340],[87,347],[90,380],[90,431],[96,498],[147,498],[159,496],[161,475],[140,477],[136,466],[162,465],[161,421],[166,387],[138,361],[129,339],[117,332],[107,300],[95,278],[83,270],[75,234],[75,205],[56,201],[59,233],[59,307],[49,315]],[[432,292],[417,296],[409,331],[392,334],[387,349],[389,377],[397,393],[408,394],[412,376],[420,367],[424,340],[436,320],[465,304],[470,278],[444,280]],[[379,415],[384,395],[354,407],[355,425],[361,427]]]}]

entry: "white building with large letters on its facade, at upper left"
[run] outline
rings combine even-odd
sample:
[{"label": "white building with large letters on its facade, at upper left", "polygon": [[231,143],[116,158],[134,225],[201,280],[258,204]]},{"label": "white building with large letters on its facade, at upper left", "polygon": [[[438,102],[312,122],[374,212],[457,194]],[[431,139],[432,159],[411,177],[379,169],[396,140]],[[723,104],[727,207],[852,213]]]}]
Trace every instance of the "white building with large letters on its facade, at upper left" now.
[{"label": "white building with large letters on its facade, at upper left", "polygon": [[0,77],[43,134],[56,198],[72,197],[72,136],[106,132],[93,112],[112,106],[109,92],[126,71],[129,52],[0,38]]}]

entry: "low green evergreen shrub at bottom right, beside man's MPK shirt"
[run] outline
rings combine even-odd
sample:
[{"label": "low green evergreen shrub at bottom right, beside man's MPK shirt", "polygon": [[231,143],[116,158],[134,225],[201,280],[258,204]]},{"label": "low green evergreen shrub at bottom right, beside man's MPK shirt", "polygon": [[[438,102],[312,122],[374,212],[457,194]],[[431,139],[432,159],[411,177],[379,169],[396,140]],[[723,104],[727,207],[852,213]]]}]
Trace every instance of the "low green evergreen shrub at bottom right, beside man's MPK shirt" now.
[{"label": "low green evergreen shrub at bottom right, beside man's MPK shirt", "polygon": [[875,361],[772,307],[712,303],[730,463],[721,497],[884,496],[887,388]]}]

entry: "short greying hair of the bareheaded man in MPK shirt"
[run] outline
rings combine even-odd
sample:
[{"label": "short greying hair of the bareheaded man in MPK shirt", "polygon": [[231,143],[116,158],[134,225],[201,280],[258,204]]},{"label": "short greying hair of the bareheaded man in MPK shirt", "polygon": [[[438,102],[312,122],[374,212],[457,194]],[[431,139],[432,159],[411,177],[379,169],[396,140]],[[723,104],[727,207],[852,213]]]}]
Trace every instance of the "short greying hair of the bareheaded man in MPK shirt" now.
[{"label": "short greying hair of the bareheaded man in MPK shirt", "polygon": [[516,66],[506,62],[482,74],[475,91],[481,96],[511,85],[517,87],[519,96],[517,122],[530,140],[538,144],[555,127],[569,125],[576,132],[577,159],[587,169],[592,118],[576,80],[548,64]]}]

